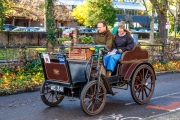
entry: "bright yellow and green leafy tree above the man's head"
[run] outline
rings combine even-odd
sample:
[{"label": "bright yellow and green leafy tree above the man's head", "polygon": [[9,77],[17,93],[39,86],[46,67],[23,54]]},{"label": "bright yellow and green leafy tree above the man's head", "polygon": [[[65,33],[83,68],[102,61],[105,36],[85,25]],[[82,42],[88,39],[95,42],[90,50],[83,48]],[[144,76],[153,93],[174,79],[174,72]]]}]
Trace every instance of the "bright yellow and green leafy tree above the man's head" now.
[{"label": "bright yellow and green leafy tree above the man's head", "polygon": [[94,27],[99,20],[113,26],[116,21],[116,9],[111,0],[86,0],[81,7],[79,5],[73,10],[72,15],[85,26]]}]

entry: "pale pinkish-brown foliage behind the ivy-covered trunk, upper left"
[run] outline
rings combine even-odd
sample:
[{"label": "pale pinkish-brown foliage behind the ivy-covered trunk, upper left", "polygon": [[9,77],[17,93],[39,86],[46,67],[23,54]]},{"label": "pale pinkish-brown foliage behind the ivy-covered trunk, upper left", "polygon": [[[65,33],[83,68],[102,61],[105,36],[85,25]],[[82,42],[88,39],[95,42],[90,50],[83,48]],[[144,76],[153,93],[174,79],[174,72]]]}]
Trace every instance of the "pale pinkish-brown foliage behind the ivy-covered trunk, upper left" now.
[{"label": "pale pinkish-brown foliage behind the ivy-covered trunk, upper left", "polygon": [[[14,5],[11,6],[13,12],[10,16],[12,17],[25,17],[26,19],[34,21],[44,20],[44,8],[46,0],[17,0],[14,1]],[[57,0],[52,0],[56,2]],[[73,21],[74,18],[70,15],[71,10],[69,10],[65,5],[55,5],[53,3],[53,14],[56,21],[66,22]]]}]

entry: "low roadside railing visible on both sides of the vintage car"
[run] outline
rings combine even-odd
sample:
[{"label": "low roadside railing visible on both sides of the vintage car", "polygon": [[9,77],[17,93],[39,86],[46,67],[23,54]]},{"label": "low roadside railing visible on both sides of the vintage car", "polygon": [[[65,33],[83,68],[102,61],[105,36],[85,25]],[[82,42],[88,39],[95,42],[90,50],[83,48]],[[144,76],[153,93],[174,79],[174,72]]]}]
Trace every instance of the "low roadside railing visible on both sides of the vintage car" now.
[{"label": "low roadside railing visible on both sides of the vintage car", "polygon": [[[149,60],[152,62],[180,59],[180,42],[140,46],[142,49],[148,50]],[[37,51],[42,52],[47,49],[45,46],[0,46],[0,62],[18,61],[21,58],[27,60],[32,58]]]}]

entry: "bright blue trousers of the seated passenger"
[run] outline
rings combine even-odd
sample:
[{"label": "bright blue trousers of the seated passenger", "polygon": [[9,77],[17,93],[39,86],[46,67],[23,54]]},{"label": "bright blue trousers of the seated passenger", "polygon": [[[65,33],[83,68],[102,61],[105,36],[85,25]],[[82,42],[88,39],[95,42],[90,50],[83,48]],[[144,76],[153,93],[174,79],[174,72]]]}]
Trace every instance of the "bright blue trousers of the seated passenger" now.
[{"label": "bright blue trousers of the seated passenger", "polygon": [[104,56],[103,61],[106,70],[113,72],[117,61],[122,57],[122,54],[123,53]]}]

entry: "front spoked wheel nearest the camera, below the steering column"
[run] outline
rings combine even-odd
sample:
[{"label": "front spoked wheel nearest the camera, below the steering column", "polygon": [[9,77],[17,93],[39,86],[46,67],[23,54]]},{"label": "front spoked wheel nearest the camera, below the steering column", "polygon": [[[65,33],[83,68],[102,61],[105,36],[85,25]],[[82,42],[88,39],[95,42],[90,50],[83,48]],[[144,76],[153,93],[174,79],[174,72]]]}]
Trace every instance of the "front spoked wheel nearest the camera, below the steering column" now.
[{"label": "front spoked wheel nearest the camera, below the steering column", "polygon": [[106,89],[102,82],[91,81],[86,84],[81,92],[81,108],[88,115],[96,115],[104,108],[106,103]]}]

